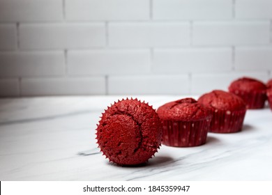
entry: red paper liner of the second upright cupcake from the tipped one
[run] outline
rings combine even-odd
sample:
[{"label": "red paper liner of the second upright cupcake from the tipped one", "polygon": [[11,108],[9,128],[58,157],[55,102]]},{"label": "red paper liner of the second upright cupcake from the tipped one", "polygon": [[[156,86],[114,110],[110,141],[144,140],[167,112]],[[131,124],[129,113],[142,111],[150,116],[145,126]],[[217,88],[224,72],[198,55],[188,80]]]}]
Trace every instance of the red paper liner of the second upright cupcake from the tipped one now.
[{"label": "red paper liner of the second upright cupcake from the tipped one", "polygon": [[241,111],[213,111],[209,132],[234,133],[242,130],[245,110]]}]

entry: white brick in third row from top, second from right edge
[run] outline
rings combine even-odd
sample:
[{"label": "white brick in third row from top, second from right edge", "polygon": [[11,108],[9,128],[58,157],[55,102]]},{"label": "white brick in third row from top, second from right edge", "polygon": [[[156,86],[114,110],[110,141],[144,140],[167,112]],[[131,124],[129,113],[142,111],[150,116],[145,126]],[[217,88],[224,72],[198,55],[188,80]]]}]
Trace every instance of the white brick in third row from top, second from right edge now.
[{"label": "white brick in third row from top, second from right edge", "polygon": [[155,49],[153,70],[160,73],[232,70],[232,49]]}]

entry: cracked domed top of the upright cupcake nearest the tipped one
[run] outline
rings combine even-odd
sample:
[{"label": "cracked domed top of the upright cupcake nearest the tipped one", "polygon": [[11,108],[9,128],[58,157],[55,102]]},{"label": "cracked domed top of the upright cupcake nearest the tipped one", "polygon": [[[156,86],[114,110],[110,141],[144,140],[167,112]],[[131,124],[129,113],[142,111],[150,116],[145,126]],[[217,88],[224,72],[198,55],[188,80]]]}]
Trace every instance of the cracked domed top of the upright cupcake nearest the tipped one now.
[{"label": "cracked domed top of the upright cupcake nearest the tipped one", "polygon": [[211,110],[197,100],[184,98],[174,102],[168,102],[157,110],[162,120],[191,121],[211,118]]}]

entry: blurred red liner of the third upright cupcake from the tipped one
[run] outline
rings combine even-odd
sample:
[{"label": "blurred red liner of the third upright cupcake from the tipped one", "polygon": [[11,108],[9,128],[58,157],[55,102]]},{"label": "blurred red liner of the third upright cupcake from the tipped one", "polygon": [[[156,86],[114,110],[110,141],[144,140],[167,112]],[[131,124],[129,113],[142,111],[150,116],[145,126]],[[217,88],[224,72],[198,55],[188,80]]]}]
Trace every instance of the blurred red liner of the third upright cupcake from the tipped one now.
[{"label": "blurred red liner of the third upright cupcake from the tipped one", "polygon": [[243,91],[230,90],[231,93],[238,95],[240,98],[245,101],[247,109],[262,109],[264,108],[264,103],[266,101],[266,93],[265,92],[250,92],[245,93]]}]

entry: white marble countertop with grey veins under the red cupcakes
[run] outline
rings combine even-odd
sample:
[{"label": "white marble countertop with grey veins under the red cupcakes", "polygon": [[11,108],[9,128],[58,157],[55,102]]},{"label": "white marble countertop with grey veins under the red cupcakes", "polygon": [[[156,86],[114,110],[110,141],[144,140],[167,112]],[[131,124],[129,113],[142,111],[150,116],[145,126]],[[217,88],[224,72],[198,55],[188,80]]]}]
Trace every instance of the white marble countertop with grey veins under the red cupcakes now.
[{"label": "white marble countertop with grey veins under the red cupcakes", "polygon": [[[145,166],[99,153],[96,123],[126,96],[0,99],[0,180],[272,180],[272,111],[249,110],[242,132],[203,146],[162,146]],[[136,97],[135,95],[133,97]],[[137,96],[154,108],[181,96]]]}]

